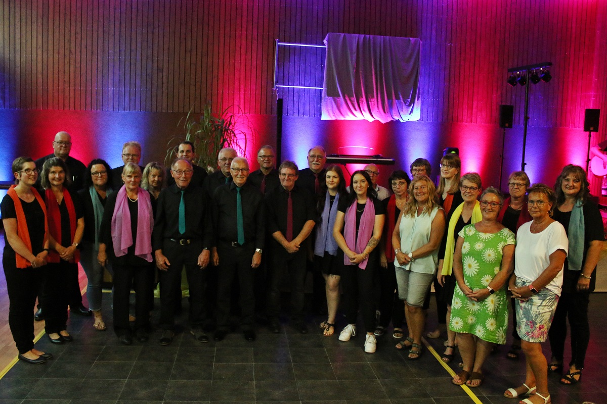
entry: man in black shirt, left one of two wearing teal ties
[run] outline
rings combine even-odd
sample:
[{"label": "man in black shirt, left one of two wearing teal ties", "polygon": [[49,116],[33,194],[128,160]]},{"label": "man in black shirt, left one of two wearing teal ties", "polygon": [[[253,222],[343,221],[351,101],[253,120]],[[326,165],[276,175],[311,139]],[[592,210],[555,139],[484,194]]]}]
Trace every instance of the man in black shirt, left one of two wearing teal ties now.
[{"label": "man in black shirt, left one of two wearing teal ties", "polygon": [[203,332],[205,320],[206,267],[212,243],[211,214],[203,190],[191,186],[192,164],[177,159],[171,166],[175,184],[158,196],[152,248],[160,269],[160,345],[169,345],[175,336],[175,288],[181,268],[188,277],[191,334],[199,342],[208,342]]}]

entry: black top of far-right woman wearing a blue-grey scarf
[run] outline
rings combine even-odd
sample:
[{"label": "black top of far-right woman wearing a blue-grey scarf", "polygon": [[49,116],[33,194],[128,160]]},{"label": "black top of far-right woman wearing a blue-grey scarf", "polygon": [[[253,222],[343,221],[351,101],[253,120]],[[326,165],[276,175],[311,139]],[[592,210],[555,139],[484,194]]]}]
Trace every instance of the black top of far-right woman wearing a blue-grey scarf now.
[{"label": "black top of far-right woman wearing a blue-grey scarf", "polygon": [[[584,256],[582,260],[582,268],[584,268],[584,263],[586,262],[586,254],[588,253],[588,248],[590,247],[591,241],[603,241],[605,240],[605,236],[603,233],[603,217],[599,211],[599,207],[597,204],[592,202],[592,200],[588,200],[584,205],[582,205],[582,211],[584,214]],[[558,208],[554,210],[554,216],[552,219],[557,220],[563,227],[565,227],[565,233],[569,237],[569,220],[571,220],[571,211],[569,212],[561,212]],[[596,283],[596,267],[591,274],[590,286],[588,291],[594,291],[595,283]],[[577,279],[580,276],[582,271],[569,271],[569,260],[565,259],[565,267],[563,267],[565,272],[563,273],[563,291],[572,293],[575,292],[575,285],[577,284]]]}]

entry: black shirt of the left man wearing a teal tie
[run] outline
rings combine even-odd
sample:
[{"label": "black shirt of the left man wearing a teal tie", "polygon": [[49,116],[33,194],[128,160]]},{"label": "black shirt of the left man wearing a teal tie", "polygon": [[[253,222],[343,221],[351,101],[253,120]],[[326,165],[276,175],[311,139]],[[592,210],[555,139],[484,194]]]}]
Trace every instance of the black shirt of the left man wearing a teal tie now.
[{"label": "black shirt of the left man wearing a teal tie", "polygon": [[177,185],[164,188],[158,196],[152,248],[162,250],[164,239],[202,240],[203,247],[212,245],[211,205],[205,191],[188,186],[183,190],[186,205],[186,232],[179,233],[179,203],[181,190]]}]

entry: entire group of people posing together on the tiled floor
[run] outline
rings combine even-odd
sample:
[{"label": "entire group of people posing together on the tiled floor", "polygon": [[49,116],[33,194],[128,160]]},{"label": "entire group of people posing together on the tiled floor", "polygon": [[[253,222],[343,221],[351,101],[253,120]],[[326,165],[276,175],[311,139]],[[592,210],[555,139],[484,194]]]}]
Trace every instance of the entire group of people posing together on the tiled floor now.
[{"label": "entire group of people posing together on the tiled floor", "polygon": [[[456,154],[441,159],[438,187],[429,162],[419,158],[410,165],[412,177],[402,170],[390,174],[390,192],[377,184],[375,164],[354,171],[346,187],[344,171],[326,164],[320,146],[308,151],[303,170],[291,161],[275,168],[273,148],[263,146],[260,168],[253,172],[244,157],[223,148],[219,169],[210,174],[193,164],[189,142],[178,146],[166,170],[155,162],[140,167],[137,142],[124,144],[124,165],[114,169],[102,159],[85,167],[69,156],[70,147],[70,135],[59,132],[53,154],[36,162],[15,159],[15,185],[2,200],[9,323],[21,360],[41,363],[51,356],[33,347],[36,296],[49,339],[72,340],[67,307],[78,262],[89,280],[93,327],[100,331],[106,329],[104,268],[112,274],[114,331],[127,345],[149,338],[155,268],[161,345],[175,336],[183,268],[189,326],[199,342],[209,341],[209,319],[216,325],[215,341],[231,331],[236,281],[245,339],[256,339],[256,305],[263,307],[270,330],[279,333],[285,274],[293,325],[307,333],[304,285],[311,269],[320,280],[314,282],[314,300],[324,305],[326,299],[324,336],[336,332],[343,297],[346,324],[339,340],[356,336],[360,314],[365,352],[376,351],[376,338],[392,322],[396,349],[418,359],[433,284],[439,324],[447,331],[442,359],[453,360],[456,346],[463,359],[454,384],[483,383],[484,361],[496,344],[506,343],[509,300],[515,332],[508,356],[515,359],[522,349],[527,374],[504,396],[549,402],[546,375],[563,369],[567,317],[572,358],[561,383],[581,380],[588,299],[603,242],[602,218],[581,167],[563,168],[554,189],[531,187],[527,174],[515,171],[504,199],[496,188],[483,189],[477,173],[462,174]],[[426,336],[441,331],[439,326]],[[551,363],[541,352],[546,339]]]}]

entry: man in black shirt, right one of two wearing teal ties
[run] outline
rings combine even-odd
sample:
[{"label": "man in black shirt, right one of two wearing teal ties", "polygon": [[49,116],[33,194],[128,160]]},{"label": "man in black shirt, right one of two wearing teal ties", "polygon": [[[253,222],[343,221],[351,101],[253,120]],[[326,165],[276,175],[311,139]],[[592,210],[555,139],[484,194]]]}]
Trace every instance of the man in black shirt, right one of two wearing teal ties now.
[{"label": "man in black shirt, right one of two wearing teal ties", "polygon": [[215,341],[229,330],[231,286],[234,276],[240,287],[240,320],[245,339],[255,340],[253,317],[254,271],[262,261],[265,240],[265,206],[259,189],[248,184],[249,163],[236,157],[231,164],[232,182],[215,190],[212,202],[213,228],[217,246],[212,259],[219,266],[217,285],[217,331]]}]

